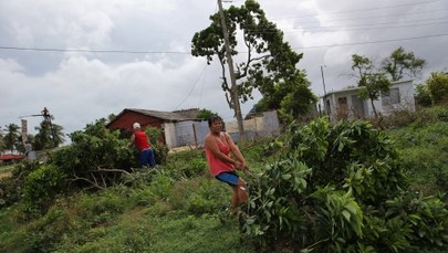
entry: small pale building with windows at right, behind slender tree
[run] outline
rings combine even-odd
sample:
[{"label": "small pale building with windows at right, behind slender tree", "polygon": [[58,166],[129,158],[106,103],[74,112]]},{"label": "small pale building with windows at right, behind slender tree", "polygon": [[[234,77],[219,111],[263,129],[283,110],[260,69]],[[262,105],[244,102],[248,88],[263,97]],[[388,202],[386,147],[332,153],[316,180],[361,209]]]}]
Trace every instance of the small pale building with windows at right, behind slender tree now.
[{"label": "small pale building with windows at right, behind slender tree", "polygon": [[[325,106],[332,122],[343,118],[371,118],[374,117],[369,99],[358,97],[361,87],[346,88],[330,92],[324,96]],[[394,110],[415,110],[413,81],[392,83],[388,93],[382,93],[377,101],[374,101],[378,114],[388,115]]]}]

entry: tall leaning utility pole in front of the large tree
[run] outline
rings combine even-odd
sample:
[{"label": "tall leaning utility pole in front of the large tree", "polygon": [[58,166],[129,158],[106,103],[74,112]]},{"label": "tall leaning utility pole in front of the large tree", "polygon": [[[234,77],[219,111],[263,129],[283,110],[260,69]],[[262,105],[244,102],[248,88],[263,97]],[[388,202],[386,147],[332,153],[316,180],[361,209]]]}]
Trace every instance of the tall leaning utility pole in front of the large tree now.
[{"label": "tall leaning utility pole in front of the large tree", "polygon": [[229,72],[230,72],[230,82],[232,85],[230,87],[230,89],[232,93],[231,95],[232,95],[232,101],[233,101],[233,109],[235,109],[235,114],[236,114],[237,120],[238,120],[238,131],[240,133],[240,140],[242,140],[242,139],[244,139],[244,126],[242,124],[240,98],[238,95],[237,80],[235,78],[233,60],[232,60],[232,54],[231,54],[230,45],[229,45],[229,31],[227,30],[226,18],[223,14],[221,0],[218,0],[218,6],[219,6],[219,14],[221,17],[222,32],[223,32],[223,36],[225,36],[225,46],[226,46],[226,54],[227,54],[227,63],[229,65]]}]

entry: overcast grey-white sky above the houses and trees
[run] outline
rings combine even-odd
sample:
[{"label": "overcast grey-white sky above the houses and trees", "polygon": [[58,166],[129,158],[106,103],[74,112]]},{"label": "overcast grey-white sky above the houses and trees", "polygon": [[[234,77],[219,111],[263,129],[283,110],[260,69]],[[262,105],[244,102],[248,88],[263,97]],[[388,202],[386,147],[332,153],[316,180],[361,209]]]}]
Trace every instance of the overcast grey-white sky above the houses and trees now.
[{"label": "overcast grey-white sky above the houses and trees", "polygon": [[[304,54],[298,67],[319,96],[321,66],[327,92],[355,84],[354,53],[379,62],[404,46],[427,61],[423,80],[448,71],[448,0],[259,3]],[[198,107],[231,119],[219,63],[190,55],[192,35],[217,10],[216,0],[0,0],[0,126],[43,107],[65,134],[124,108]],[[42,118],[27,119],[35,134]]]}]

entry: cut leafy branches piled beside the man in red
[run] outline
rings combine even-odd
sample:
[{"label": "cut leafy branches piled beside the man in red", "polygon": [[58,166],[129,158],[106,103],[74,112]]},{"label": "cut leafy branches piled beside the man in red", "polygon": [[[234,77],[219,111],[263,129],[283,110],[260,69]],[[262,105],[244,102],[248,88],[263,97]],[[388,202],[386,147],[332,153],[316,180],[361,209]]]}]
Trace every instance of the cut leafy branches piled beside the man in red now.
[{"label": "cut leafy branches piled beside the man in red", "polygon": [[85,131],[75,131],[70,137],[72,145],[53,154],[50,162],[67,175],[72,187],[105,189],[137,167],[127,141],[119,139],[118,131],[106,129],[104,120],[87,125]]}]

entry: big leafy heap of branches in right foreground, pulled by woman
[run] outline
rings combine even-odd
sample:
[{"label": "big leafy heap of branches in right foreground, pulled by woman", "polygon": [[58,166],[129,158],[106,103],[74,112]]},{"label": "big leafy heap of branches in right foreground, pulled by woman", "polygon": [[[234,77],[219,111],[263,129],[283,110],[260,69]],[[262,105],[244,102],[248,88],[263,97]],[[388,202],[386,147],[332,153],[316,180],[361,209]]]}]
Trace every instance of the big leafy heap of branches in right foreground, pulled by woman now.
[{"label": "big leafy heap of branches in right foreground, pulled by woman", "polygon": [[[403,252],[420,243],[415,228],[423,224],[407,214],[421,221],[430,212],[405,204],[393,215],[387,204],[406,196],[407,183],[384,131],[362,120],[331,126],[317,119],[291,125],[279,143],[284,146],[278,161],[252,179],[250,215],[241,224],[261,245],[285,240],[304,251]],[[434,203],[433,221],[425,221],[431,246],[446,243],[447,210],[440,203]]]}]

